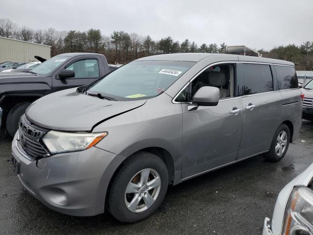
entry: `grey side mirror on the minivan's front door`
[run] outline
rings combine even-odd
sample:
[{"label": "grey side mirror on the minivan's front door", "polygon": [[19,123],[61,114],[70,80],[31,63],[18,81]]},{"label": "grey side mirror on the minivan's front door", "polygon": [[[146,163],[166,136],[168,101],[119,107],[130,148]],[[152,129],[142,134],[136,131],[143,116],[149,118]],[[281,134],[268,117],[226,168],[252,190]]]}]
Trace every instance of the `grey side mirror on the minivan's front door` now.
[{"label": "grey side mirror on the minivan's front door", "polygon": [[188,110],[195,110],[198,106],[216,106],[220,100],[220,89],[217,87],[201,87],[192,97],[191,107]]}]

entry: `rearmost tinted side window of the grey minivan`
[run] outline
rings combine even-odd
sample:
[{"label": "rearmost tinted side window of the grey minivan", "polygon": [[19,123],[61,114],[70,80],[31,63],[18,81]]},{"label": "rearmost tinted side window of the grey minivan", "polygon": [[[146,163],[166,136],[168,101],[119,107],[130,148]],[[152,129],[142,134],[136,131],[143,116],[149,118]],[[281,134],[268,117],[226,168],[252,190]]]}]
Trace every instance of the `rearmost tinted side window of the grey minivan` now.
[{"label": "rearmost tinted side window of the grey minivan", "polygon": [[293,67],[275,65],[274,68],[279,90],[298,88],[298,78]]}]

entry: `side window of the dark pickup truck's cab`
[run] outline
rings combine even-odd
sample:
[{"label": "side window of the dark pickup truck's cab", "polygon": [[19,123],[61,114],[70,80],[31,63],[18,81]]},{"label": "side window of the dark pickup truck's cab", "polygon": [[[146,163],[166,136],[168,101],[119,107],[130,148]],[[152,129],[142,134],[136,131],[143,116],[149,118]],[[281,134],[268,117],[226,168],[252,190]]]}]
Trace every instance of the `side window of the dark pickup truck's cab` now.
[{"label": "side window of the dark pickup truck's cab", "polygon": [[83,59],[68,65],[66,70],[75,71],[73,78],[97,78],[99,77],[99,63],[97,59]]}]

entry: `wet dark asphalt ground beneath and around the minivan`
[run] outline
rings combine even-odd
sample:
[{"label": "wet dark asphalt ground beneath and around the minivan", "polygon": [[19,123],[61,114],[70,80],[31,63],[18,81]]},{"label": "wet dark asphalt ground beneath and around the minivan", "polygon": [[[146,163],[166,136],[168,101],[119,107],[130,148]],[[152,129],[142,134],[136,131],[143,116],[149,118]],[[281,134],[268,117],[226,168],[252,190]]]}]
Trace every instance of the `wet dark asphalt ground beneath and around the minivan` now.
[{"label": "wet dark asphalt ground beneath and around the minivan", "polygon": [[108,212],[73,217],[51,211],[22,188],[10,152],[11,139],[2,134],[0,234],[260,235],[279,191],[313,162],[313,123],[304,121],[300,139],[281,162],[257,156],[170,187],[159,210],[134,224],[120,223]]}]

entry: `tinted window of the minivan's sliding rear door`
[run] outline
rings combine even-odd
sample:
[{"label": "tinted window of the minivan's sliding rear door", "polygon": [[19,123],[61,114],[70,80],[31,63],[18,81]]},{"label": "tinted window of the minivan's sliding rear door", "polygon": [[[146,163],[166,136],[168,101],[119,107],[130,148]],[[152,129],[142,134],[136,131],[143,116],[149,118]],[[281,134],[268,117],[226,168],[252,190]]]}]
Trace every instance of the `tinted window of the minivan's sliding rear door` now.
[{"label": "tinted window of the minivan's sliding rear door", "polygon": [[271,91],[273,91],[273,79],[269,65],[237,65],[237,96]]}]

